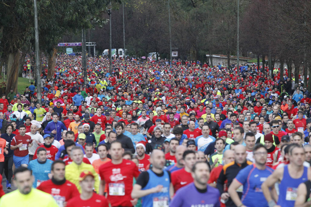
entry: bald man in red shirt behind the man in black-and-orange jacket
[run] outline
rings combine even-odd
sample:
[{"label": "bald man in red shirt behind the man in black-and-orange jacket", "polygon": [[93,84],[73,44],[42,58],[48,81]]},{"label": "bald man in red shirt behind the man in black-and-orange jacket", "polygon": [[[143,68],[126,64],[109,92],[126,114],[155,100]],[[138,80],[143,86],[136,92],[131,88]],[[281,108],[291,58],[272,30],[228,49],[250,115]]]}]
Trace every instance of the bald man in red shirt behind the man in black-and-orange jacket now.
[{"label": "bald man in red shirt behind the man in black-and-orange jacket", "polygon": [[213,168],[210,173],[210,179],[208,180],[208,184],[214,188],[216,188],[216,182],[220,175],[220,172],[224,165],[231,163],[234,161],[234,151],[233,150],[226,150],[224,152],[224,155],[222,157],[222,164],[220,164],[218,167]]}]

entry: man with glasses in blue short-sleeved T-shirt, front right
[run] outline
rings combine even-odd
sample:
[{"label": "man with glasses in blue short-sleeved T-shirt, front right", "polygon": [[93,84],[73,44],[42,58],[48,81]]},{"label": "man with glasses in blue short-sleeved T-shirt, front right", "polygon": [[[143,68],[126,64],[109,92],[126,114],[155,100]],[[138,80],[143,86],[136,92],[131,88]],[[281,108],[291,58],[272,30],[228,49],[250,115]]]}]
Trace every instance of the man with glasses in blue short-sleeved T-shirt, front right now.
[{"label": "man with glasses in blue short-sleeved T-shirt, front right", "polygon": [[[258,144],[254,150],[255,163],[242,169],[230,184],[228,193],[236,206],[240,207],[267,207],[268,203],[263,199],[261,184],[272,174],[273,170],[266,166],[267,149]],[[239,198],[237,189],[243,186],[242,198]]]}]

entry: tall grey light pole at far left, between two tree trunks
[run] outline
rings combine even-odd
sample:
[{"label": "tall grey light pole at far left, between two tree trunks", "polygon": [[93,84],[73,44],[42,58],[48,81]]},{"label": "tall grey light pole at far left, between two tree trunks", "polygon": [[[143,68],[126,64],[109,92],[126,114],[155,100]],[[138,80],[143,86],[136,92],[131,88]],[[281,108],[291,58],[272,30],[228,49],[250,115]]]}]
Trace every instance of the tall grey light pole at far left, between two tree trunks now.
[{"label": "tall grey light pole at far left, between two tree trunks", "polygon": [[[35,13],[35,50],[36,50],[36,78],[37,78],[37,100],[41,104],[41,70],[39,60],[39,29],[38,29],[38,11],[37,0],[34,0],[34,13]],[[30,75],[29,75],[30,77]]]}]

